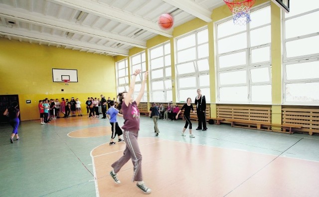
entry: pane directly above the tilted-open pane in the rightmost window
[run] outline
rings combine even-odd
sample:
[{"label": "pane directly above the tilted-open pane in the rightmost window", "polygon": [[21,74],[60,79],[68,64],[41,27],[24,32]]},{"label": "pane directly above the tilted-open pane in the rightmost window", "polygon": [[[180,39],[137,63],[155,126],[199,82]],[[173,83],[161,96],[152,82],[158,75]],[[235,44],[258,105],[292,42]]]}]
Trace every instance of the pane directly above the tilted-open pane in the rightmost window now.
[{"label": "pane directly above the tilted-open pane in the rightmost window", "polygon": [[[316,47],[310,47],[316,46]],[[319,36],[294,40],[286,43],[287,57],[319,53]]]}]

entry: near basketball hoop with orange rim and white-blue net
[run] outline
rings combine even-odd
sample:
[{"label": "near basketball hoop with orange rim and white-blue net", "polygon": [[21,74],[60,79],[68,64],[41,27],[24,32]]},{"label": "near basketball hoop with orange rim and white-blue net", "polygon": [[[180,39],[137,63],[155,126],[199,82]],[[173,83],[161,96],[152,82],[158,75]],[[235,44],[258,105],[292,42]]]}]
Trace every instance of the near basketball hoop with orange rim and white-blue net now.
[{"label": "near basketball hoop with orange rim and white-blue net", "polygon": [[256,0],[224,0],[233,13],[234,24],[245,25],[251,21],[250,8]]}]

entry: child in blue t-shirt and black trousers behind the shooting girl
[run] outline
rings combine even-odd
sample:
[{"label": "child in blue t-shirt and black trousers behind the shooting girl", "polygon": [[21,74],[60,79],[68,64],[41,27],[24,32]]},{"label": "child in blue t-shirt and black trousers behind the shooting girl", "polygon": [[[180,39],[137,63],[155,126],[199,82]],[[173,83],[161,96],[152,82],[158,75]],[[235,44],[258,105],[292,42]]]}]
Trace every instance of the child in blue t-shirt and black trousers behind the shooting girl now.
[{"label": "child in blue t-shirt and black trousers behind the shooting girl", "polygon": [[112,125],[112,136],[110,145],[115,145],[116,143],[113,142],[116,135],[118,135],[119,142],[124,142],[124,140],[121,139],[121,135],[123,134],[122,129],[119,127],[118,121],[116,120],[116,116],[122,116],[122,114],[119,113],[117,109],[114,107],[114,101],[110,101],[110,108],[106,112],[106,116],[108,119],[110,119],[110,124]]}]

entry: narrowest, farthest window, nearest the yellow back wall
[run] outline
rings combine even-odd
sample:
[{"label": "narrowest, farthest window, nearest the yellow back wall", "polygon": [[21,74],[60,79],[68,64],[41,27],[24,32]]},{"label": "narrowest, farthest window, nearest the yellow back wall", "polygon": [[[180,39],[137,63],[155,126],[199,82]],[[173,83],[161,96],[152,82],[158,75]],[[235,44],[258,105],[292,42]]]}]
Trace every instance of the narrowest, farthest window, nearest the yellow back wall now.
[{"label": "narrowest, farthest window, nearest the yellow back wall", "polygon": [[118,93],[129,90],[128,59],[116,62],[116,85]]}]

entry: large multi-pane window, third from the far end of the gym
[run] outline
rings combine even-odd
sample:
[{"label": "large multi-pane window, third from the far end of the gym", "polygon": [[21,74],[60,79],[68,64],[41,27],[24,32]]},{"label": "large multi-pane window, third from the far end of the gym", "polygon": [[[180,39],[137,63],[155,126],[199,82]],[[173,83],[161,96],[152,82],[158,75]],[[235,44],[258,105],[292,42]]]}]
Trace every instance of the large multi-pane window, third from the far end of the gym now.
[{"label": "large multi-pane window, third from the far end of the gym", "polygon": [[151,101],[171,102],[170,43],[150,49],[150,78]]}]

